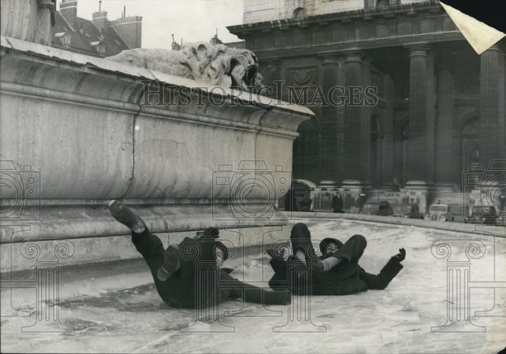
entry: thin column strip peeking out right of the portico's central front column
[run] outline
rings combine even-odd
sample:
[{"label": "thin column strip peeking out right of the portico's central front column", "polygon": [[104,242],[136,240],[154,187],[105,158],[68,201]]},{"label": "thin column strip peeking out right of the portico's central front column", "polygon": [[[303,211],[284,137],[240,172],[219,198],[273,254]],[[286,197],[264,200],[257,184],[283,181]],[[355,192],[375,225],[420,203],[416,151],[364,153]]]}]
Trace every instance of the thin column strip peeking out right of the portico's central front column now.
[{"label": "thin column strip peeking out right of the portico's central front column", "polygon": [[[427,55],[427,183],[434,184],[436,163],[436,77],[434,74],[434,53]],[[439,156],[439,155],[438,155]]]}]

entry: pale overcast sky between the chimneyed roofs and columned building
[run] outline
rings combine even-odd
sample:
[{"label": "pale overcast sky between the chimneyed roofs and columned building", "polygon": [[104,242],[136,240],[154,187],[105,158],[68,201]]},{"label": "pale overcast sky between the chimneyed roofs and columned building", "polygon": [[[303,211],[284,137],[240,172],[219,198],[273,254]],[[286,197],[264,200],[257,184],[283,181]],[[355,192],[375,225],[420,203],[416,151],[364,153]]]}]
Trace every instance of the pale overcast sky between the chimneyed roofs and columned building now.
[{"label": "pale overcast sky between the chimneyed roofs and columned building", "polygon": [[[229,25],[242,23],[243,0],[103,0],[107,18],[142,16],[142,47],[171,48],[172,36],[178,42],[209,41],[216,33],[224,42],[240,40],[230,34]],[[58,1],[61,3],[61,0]],[[77,16],[91,20],[98,0],[78,0]]]}]

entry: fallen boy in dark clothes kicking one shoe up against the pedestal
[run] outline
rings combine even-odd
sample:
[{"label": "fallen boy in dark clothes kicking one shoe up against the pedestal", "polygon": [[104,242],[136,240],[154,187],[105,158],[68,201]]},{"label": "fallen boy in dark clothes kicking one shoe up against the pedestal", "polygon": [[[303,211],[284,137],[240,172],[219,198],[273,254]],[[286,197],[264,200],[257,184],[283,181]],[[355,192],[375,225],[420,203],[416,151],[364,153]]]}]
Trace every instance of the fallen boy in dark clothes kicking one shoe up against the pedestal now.
[{"label": "fallen boy in dark clothes kicking one shoe up against the pedestal", "polygon": [[[209,228],[186,237],[179,245],[163,249],[160,239],[151,234],[143,220],[122,203],[109,203],[112,216],[132,230],[132,243],[148,264],[158,294],[173,307],[201,308],[226,299],[242,298],[264,304],[288,304],[290,293],[270,291],[245,284],[220,269],[228,249],[217,241],[219,231]],[[263,298],[263,300],[262,300]]]}]

